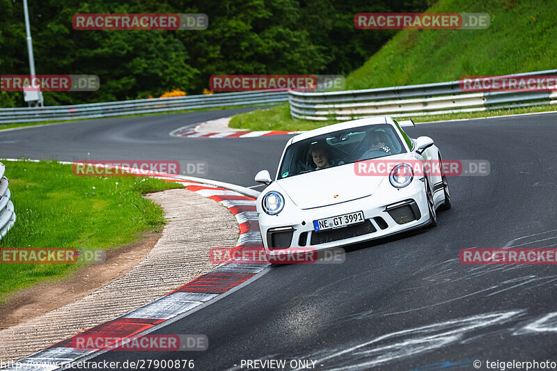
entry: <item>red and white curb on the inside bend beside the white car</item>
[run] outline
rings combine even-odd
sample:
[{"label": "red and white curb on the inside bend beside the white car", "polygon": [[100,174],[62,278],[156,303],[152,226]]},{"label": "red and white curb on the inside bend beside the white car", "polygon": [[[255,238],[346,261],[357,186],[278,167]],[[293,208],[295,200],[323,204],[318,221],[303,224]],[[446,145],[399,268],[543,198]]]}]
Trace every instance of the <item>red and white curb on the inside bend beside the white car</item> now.
[{"label": "red and white curb on the inside bend beside the white car", "polygon": [[[157,177],[167,182],[180,182],[189,191],[194,191],[202,196],[211,198],[227,207],[235,215],[240,225],[240,237],[235,250],[243,248],[249,248],[250,251],[254,249],[262,250],[263,245],[259,232],[256,199],[245,195],[253,194],[255,191],[244,189],[234,184],[210,180],[207,180],[207,182],[212,184],[180,176],[159,175]],[[219,187],[219,185],[224,187]],[[232,189],[239,191],[243,189],[245,194],[244,192],[240,193]],[[1,370],[58,370],[59,368],[67,368],[74,361],[93,358],[93,356],[104,353],[106,350],[76,349],[77,337],[93,336],[95,338],[123,339],[150,333],[201,309],[213,301],[219,300],[221,297],[226,296],[223,294],[230,293],[231,290],[237,290],[241,285],[246,284],[248,280],[256,279],[256,275],[262,274],[262,271],[268,266],[269,263],[267,262],[246,264],[245,262],[235,262],[235,259],[228,260],[170,294],[166,294],[164,297],[109,322],[79,333],[77,336],[58,342],[36,354],[22,358]],[[107,346],[110,345],[107,344]]]}]

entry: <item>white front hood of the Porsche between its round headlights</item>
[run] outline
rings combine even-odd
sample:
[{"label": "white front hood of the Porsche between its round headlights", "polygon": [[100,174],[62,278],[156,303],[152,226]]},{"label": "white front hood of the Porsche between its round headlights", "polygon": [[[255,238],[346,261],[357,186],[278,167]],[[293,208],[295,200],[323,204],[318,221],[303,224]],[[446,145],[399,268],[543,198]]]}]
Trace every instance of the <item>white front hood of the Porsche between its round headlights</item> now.
[{"label": "white front hood of the Porsche between its round headlights", "polygon": [[345,164],[287,177],[277,184],[298,207],[311,209],[370,196],[385,178],[356,175],[354,164]]}]

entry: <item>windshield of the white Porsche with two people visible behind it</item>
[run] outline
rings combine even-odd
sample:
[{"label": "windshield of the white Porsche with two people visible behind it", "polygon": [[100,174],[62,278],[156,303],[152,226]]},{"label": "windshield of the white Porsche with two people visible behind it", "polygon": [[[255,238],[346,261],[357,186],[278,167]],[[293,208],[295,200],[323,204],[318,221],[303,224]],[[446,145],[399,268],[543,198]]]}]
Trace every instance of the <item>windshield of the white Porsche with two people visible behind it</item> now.
[{"label": "windshield of the white Porsche with two people visible behind it", "polygon": [[290,145],[278,179],[406,152],[389,124],[352,127]]}]

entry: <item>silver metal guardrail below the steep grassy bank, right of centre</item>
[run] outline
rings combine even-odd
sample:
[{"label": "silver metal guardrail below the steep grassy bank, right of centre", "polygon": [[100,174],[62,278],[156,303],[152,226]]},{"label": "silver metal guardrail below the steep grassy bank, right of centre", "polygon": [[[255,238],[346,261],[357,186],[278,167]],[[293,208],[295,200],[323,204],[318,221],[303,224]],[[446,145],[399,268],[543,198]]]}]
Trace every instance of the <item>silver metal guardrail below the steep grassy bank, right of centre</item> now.
[{"label": "silver metal guardrail below the steep grassy bank, right of centre", "polygon": [[[557,75],[557,70],[506,77]],[[290,113],[306,120],[352,120],[370,116],[426,116],[557,104],[557,91],[467,93],[460,81],[324,93],[289,92]]]}]

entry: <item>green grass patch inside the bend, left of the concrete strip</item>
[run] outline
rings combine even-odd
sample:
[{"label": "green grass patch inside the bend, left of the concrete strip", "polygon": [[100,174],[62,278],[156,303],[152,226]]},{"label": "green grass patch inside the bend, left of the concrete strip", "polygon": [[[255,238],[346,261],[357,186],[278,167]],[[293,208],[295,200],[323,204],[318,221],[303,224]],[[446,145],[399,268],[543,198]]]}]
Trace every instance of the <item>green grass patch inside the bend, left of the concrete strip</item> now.
[{"label": "green grass patch inside the bend, left of the concrete strip", "polygon": [[[77,177],[56,161],[2,161],[17,220],[0,247],[118,248],[164,226],[162,209],[141,197],[182,187],[150,177]],[[116,184],[118,182],[118,184]],[[0,303],[6,294],[76,265],[0,265]]]}]

